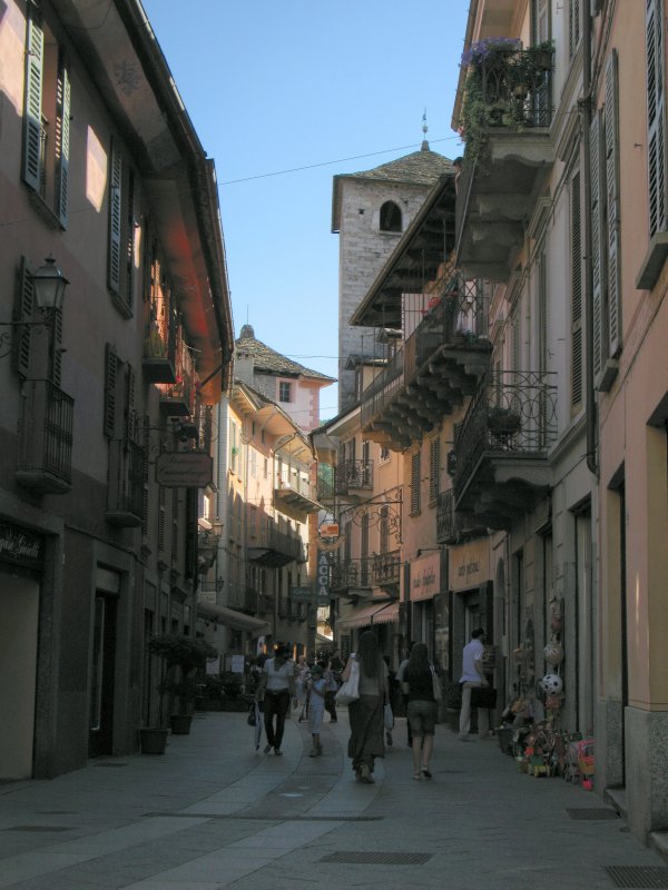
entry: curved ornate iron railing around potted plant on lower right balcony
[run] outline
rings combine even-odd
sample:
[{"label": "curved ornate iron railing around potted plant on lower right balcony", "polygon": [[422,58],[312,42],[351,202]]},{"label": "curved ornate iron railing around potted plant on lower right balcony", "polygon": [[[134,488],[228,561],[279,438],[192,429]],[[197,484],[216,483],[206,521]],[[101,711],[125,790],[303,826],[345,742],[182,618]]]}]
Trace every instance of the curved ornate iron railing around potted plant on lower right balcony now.
[{"label": "curved ornate iron railing around potted plant on lower right balcony", "polygon": [[544,457],[557,439],[556,374],[499,370],[484,378],[458,427],[454,494],[459,501],[483,454]]}]

